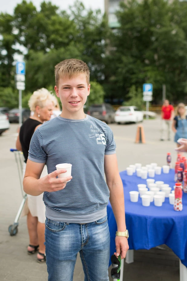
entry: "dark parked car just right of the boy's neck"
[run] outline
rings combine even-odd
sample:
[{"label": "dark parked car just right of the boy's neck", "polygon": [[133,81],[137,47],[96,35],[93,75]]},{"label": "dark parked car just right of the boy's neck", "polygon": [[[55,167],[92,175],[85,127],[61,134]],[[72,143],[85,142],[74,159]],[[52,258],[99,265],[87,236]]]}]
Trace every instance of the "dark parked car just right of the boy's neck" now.
[{"label": "dark parked car just right of the boy's neck", "polygon": [[93,116],[106,123],[113,123],[115,117],[115,110],[109,103],[94,104],[91,105],[87,112],[90,116]]}]

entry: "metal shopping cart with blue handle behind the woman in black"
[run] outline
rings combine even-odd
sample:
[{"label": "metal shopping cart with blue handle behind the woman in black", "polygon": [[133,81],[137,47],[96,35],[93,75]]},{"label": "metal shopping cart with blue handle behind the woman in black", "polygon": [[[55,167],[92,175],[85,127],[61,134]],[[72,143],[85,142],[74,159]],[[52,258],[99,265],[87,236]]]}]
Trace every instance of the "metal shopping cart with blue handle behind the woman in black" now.
[{"label": "metal shopping cart with blue handle behind the woman in black", "polygon": [[19,175],[19,181],[20,181],[20,186],[21,186],[21,194],[23,197],[23,200],[21,202],[21,205],[19,207],[18,213],[15,217],[15,221],[13,224],[11,224],[8,227],[8,232],[10,233],[10,236],[14,236],[16,235],[16,233],[18,232],[18,225],[19,225],[19,218],[21,215],[21,211],[25,205],[25,201],[27,199],[27,194],[24,192],[23,190],[23,161],[24,161],[24,156],[23,156],[23,152],[17,150],[17,149],[10,149],[11,152],[14,153],[15,156],[15,160],[17,163],[17,167],[18,167],[18,175]]}]

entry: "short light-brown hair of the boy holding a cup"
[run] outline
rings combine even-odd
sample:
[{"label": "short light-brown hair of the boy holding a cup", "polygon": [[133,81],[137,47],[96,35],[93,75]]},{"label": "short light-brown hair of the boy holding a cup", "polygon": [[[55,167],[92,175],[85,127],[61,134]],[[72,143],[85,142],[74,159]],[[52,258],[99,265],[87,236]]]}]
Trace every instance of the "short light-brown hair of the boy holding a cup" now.
[{"label": "short light-brown hair of the boy holding a cup", "polygon": [[86,75],[86,81],[89,85],[90,83],[90,70],[87,64],[80,59],[65,59],[64,61],[55,65],[55,83],[56,86],[59,86],[59,79],[63,76],[68,78],[75,77],[79,74],[84,73]]}]

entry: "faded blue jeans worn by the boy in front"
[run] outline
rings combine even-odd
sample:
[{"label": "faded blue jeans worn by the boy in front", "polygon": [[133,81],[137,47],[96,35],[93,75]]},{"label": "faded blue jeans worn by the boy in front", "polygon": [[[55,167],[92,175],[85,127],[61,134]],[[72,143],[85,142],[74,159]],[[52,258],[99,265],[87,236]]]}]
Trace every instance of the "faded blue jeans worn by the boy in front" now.
[{"label": "faded blue jeans worn by the boy in front", "polygon": [[110,233],[107,216],[79,224],[46,219],[45,245],[48,281],[72,281],[77,253],[84,281],[108,281]]}]

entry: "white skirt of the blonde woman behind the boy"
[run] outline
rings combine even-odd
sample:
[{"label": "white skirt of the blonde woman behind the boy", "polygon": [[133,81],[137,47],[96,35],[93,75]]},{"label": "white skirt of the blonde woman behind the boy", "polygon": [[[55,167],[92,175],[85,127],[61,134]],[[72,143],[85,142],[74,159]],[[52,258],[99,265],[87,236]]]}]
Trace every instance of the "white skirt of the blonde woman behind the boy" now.
[{"label": "white skirt of the blonde woman behind the boy", "polygon": [[[25,168],[26,168],[26,163],[24,162],[23,177],[25,175]],[[48,170],[47,170],[47,166],[45,165],[40,178],[43,178],[47,175],[48,175]],[[28,194],[21,216],[22,217],[27,216],[28,212],[30,212],[33,217],[38,217],[39,222],[45,223],[46,217],[45,217],[45,204],[43,201],[43,195],[44,193],[38,196],[32,196]]]}]

